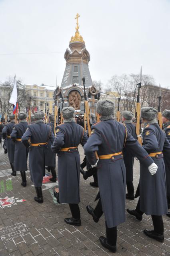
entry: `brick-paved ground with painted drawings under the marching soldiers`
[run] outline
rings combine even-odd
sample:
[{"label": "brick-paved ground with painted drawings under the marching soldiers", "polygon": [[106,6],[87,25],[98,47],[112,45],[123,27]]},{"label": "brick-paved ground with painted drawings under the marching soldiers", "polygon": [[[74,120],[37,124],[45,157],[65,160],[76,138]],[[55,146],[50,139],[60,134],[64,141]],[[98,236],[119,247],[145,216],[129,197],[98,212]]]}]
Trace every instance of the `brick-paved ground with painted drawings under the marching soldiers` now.
[{"label": "brick-paved ground with painted drawings under the marching soldiers", "polygon": [[[83,159],[82,146],[79,147]],[[57,161],[57,157],[56,157]],[[56,168],[57,170],[57,168]],[[95,206],[97,188],[89,185],[92,178],[80,177],[80,211],[82,226],[69,226],[64,222],[70,217],[68,204],[58,204],[53,196],[58,182],[49,181],[46,173],[42,185],[44,203],[34,201],[35,189],[27,172],[27,187],[22,187],[21,177],[10,175],[11,169],[4,150],[0,150],[0,256],[168,256],[170,255],[170,219],[164,216],[164,243],[147,238],[143,230],[152,229],[151,216],[142,221],[126,215],[126,223],[118,226],[117,253],[102,248],[99,236],[105,236],[104,216],[94,223],[86,211],[86,205]],[[139,163],[134,163],[134,187],[139,180]],[[134,209],[136,200],[126,200],[126,208]]]}]

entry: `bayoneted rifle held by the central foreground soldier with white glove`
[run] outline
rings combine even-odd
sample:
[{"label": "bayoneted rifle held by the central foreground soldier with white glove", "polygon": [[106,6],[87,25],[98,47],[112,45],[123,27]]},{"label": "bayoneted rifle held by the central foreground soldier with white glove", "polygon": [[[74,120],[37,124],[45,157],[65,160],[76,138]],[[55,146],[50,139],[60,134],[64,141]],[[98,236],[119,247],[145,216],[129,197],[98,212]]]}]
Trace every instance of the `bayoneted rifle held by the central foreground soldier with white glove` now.
[{"label": "bayoneted rifle held by the central foreground soldier with white glove", "polygon": [[[82,62],[82,69],[83,69],[83,62]],[[83,73],[84,73],[84,70],[83,70]],[[89,102],[87,100],[87,95],[86,95],[86,89],[85,89],[85,77],[83,76],[82,78],[82,81],[83,81],[83,87],[84,87],[84,108],[85,108],[85,113],[86,113],[86,120],[84,118],[84,122],[86,122],[86,127],[88,128],[88,136],[90,137],[90,134],[91,134],[91,126],[92,126],[92,117],[91,117],[91,114],[90,114],[90,105],[89,105]],[[96,160],[98,160],[98,154],[97,152],[95,152],[95,156],[96,156]]]}]

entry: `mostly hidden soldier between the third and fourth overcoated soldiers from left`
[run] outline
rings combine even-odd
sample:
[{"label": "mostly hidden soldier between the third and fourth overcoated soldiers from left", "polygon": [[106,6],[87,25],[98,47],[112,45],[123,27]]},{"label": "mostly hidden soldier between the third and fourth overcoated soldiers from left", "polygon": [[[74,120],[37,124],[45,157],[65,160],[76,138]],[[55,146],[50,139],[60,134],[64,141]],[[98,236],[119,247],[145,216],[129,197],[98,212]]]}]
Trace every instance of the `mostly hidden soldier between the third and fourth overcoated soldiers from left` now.
[{"label": "mostly hidden soldier between the third and fourth overcoated soldiers from left", "polygon": [[[50,115],[49,116],[49,123],[46,123],[47,125],[51,126],[52,128],[52,132],[55,134],[54,132],[54,115]],[[56,182],[57,176],[56,176],[56,153],[52,152],[51,150],[51,145],[52,143],[50,142],[50,140],[48,141],[48,155],[46,157],[46,169],[52,174],[52,178],[50,178],[49,180],[52,182]]]}]

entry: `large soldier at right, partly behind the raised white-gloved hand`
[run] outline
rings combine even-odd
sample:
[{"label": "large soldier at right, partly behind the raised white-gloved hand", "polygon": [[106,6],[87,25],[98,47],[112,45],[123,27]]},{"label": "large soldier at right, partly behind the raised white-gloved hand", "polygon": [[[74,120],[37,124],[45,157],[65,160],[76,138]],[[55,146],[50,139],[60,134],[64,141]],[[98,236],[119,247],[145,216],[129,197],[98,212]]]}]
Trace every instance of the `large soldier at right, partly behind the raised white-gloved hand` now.
[{"label": "large soldier at right, partly behind the raised white-gloved hand", "polygon": [[[142,132],[143,148],[152,157],[158,171],[151,176],[148,170],[140,164],[139,195],[140,199],[135,210],[127,209],[128,213],[142,220],[142,215],[152,216],[154,230],[144,230],[146,236],[159,242],[164,242],[164,224],[162,215],[168,212],[166,194],[166,173],[162,151],[170,156],[170,143],[165,132],[158,125],[157,110],[152,107],[141,108],[144,123]],[[136,197],[138,194],[136,195]]]}]

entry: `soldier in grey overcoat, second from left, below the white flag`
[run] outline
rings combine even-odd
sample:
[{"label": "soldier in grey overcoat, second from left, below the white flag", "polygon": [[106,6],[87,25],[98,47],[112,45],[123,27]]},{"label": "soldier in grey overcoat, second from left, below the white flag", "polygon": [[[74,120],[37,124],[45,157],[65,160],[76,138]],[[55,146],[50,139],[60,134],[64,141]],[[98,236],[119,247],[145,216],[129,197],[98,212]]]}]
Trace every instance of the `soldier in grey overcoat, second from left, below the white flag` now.
[{"label": "soldier in grey overcoat, second from left, below the white flag", "polygon": [[28,148],[26,148],[22,142],[21,137],[27,129],[28,122],[26,121],[27,114],[20,112],[18,114],[19,123],[14,125],[12,133],[10,134],[11,139],[15,143],[15,154],[14,154],[14,167],[15,171],[20,171],[22,177],[21,185],[26,187],[26,171],[27,169],[27,158],[28,158]]}]

